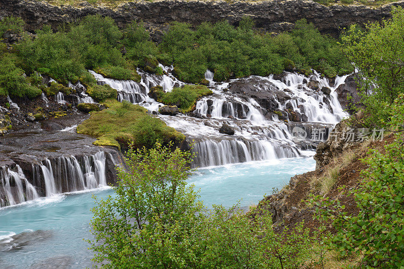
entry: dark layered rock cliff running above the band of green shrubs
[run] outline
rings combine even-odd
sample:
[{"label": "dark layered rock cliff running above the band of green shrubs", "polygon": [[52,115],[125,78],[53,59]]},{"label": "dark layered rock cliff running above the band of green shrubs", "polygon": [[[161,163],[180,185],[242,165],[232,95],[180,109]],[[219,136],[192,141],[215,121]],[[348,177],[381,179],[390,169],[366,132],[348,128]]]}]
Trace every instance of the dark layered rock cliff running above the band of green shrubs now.
[{"label": "dark layered rock cliff running above the band of green shrubs", "polygon": [[61,23],[79,20],[89,14],[112,17],[119,26],[132,20],[142,19],[155,40],[172,21],[198,25],[202,22],[217,22],[223,19],[237,25],[243,16],[254,18],[256,26],[270,32],[289,30],[296,20],[306,18],[323,33],[337,35],[341,28],[350,24],[364,24],[390,17],[392,6],[404,6],[400,1],[380,8],[366,6],[323,6],[313,1],[155,1],[129,2],[110,9],[92,6],[86,2],[79,7],[57,7],[43,2],[27,0],[2,0],[0,16],[19,16],[27,23],[27,30],[33,31],[44,24],[53,27]]}]

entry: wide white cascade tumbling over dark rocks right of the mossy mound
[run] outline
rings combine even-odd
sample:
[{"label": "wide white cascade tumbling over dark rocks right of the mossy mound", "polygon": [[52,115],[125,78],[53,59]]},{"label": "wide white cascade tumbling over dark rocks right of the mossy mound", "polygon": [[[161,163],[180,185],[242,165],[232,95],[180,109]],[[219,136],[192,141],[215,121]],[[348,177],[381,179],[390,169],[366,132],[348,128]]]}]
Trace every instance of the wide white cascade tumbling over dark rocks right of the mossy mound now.
[{"label": "wide white cascade tumbling over dark rocks right of the mossy mound", "polygon": [[[205,78],[214,94],[196,102],[194,114],[200,116],[160,115],[159,107],[164,104],[148,96],[150,88],[160,85],[167,92],[173,87],[184,85],[170,74],[173,67],[160,67],[166,75],[151,75],[138,70],[141,75],[139,83],[107,79],[93,71],[89,72],[99,84],[108,84],[117,89],[119,101],[128,100],[144,106],[157,114],[168,126],[184,133],[190,141],[194,140],[195,167],[311,155],[313,153],[305,150],[314,149],[319,141],[312,141],[310,137],[305,142],[296,141],[292,136],[293,128],[304,129],[310,135],[315,131],[313,129],[332,128],[347,116],[335,91],[347,76],[337,77],[332,86],[316,72],[310,77],[286,73],[281,80],[276,80],[271,75],[217,83],[213,81],[214,74],[209,70],[206,71]],[[317,90],[308,86],[310,81],[318,84]],[[244,85],[252,87],[252,92],[237,92]],[[326,89],[324,92],[323,87]],[[270,111],[260,105],[264,99],[260,97],[261,93],[266,94],[265,98],[270,93]],[[280,115],[283,116],[282,119]],[[233,136],[219,133],[224,123],[234,129]],[[327,134],[328,129],[321,140],[326,139]]]}]

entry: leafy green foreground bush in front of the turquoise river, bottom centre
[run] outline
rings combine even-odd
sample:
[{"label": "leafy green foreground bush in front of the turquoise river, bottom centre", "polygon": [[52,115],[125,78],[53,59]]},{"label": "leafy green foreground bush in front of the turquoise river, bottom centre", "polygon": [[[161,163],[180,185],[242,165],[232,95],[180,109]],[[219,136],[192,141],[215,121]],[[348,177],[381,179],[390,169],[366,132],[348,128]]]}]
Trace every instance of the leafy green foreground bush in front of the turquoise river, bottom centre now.
[{"label": "leafy green foreground bush in front of the turquoise river, bottom centre", "polygon": [[[91,116],[92,117],[92,116]],[[88,241],[103,268],[299,268],[312,249],[300,224],[280,234],[263,212],[249,221],[236,206],[204,207],[192,185],[192,155],[156,143],[129,147],[116,196],[92,209]]]}]

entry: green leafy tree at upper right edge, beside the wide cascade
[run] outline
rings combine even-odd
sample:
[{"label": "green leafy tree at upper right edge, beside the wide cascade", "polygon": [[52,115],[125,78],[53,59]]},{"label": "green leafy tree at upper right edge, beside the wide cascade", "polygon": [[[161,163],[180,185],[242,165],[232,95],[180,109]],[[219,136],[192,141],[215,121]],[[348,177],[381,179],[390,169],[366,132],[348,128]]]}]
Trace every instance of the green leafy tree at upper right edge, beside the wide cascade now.
[{"label": "green leafy tree at upper right edge, beside the wide cascade", "polygon": [[404,92],[403,27],[404,10],[398,7],[392,10],[391,20],[369,23],[365,29],[352,25],[341,37],[345,55],[359,70],[367,126],[387,120],[390,115],[384,106]]}]

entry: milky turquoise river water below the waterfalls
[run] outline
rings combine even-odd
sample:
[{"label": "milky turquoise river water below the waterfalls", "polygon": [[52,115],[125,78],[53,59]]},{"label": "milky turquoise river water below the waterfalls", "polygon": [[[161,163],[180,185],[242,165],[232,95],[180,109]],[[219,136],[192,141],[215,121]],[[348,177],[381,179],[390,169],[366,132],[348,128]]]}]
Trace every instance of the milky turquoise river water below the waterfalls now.
[{"label": "milky turquoise river water below the waterfalls", "polygon": [[[199,169],[188,182],[200,189],[201,199],[208,207],[231,206],[240,199],[240,206],[249,206],[257,204],[264,194],[271,194],[273,187],[281,188],[290,177],[314,169],[313,158],[270,160]],[[92,193],[102,198],[113,191],[59,195],[0,209],[0,250],[13,243],[9,236],[27,232],[24,246],[0,251],[0,268],[90,266],[92,253],[83,239],[91,237]]]}]

